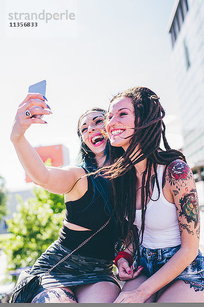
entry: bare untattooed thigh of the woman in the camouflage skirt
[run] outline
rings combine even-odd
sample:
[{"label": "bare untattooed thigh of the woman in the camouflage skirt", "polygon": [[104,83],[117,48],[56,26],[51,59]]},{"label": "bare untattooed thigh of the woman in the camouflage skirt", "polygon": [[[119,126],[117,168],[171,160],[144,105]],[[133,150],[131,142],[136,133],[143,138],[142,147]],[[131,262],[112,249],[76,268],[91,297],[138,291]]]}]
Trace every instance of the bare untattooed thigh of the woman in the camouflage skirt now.
[{"label": "bare untattooed thigh of the woman in the camouflage skirt", "polygon": [[78,303],[113,303],[119,293],[118,286],[110,281],[82,284],[74,289]]}]

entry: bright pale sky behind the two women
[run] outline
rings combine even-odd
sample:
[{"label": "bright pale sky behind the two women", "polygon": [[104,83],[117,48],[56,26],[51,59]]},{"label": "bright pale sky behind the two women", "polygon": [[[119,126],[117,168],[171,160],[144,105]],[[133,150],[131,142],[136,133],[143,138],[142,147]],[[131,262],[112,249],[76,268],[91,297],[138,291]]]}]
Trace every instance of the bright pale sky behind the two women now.
[{"label": "bright pale sky behind the two women", "polygon": [[80,115],[93,106],[107,108],[115,94],[136,85],[149,87],[160,96],[166,111],[167,140],[172,148],[182,147],[167,31],[174,2],[18,0],[15,10],[22,11],[25,3],[27,11],[62,12],[67,8],[74,11],[75,20],[74,24],[65,20],[61,24],[57,20],[46,25],[44,22],[44,28],[33,36],[30,29],[23,29],[27,37],[11,37],[8,10],[9,6],[13,8],[14,0],[0,1],[0,175],[9,191],[32,185],[25,183],[10,132],[17,106],[27,96],[29,85],[43,79],[47,81],[46,97],[53,115],[44,117],[47,125],[32,125],[25,133],[33,147],[63,144],[74,164],[79,151]]}]

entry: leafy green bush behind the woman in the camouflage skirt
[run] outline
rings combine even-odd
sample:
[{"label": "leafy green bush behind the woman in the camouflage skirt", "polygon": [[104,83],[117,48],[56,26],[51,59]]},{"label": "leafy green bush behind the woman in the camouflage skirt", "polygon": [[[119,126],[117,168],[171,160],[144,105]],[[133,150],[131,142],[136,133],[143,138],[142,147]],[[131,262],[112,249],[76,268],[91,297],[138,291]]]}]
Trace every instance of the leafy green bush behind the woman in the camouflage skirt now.
[{"label": "leafy green bush behind the woman in the camouflage skirt", "polygon": [[22,201],[17,195],[17,213],[7,220],[12,237],[4,243],[8,269],[32,266],[58,238],[65,216],[64,196],[34,188],[35,198]]}]

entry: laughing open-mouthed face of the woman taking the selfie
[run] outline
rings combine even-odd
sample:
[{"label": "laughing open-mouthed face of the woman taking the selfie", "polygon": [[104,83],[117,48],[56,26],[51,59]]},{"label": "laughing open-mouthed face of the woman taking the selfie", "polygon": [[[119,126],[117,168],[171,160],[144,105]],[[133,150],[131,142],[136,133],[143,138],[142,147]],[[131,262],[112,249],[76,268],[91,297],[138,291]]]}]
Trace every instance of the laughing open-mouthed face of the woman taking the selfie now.
[{"label": "laughing open-mouthed face of the woman taking the selfie", "polygon": [[80,133],[83,142],[95,155],[103,155],[107,140],[104,138],[104,115],[97,111],[85,114],[80,120]]}]

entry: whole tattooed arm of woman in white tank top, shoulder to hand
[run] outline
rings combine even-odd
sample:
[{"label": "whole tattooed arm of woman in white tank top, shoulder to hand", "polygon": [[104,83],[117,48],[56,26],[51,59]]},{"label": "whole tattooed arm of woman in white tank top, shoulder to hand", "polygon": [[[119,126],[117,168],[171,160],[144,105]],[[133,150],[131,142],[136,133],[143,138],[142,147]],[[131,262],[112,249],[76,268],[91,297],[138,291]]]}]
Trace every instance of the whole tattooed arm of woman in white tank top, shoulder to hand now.
[{"label": "whole tattooed arm of woman in white tank top, shoulder to hand", "polygon": [[[145,302],[152,294],[178,276],[197,256],[199,207],[192,171],[185,162],[175,160],[168,166],[165,179],[165,185],[169,189],[177,212],[181,248],[137,289],[121,293],[118,298],[123,299],[122,302]],[[119,300],[115,302],[120,302]]]}]

